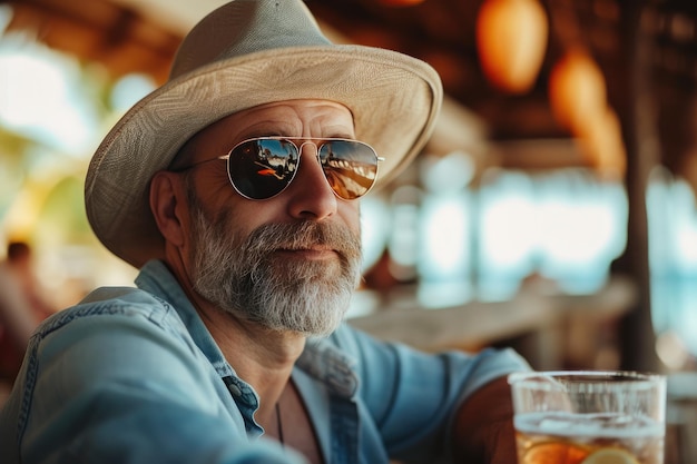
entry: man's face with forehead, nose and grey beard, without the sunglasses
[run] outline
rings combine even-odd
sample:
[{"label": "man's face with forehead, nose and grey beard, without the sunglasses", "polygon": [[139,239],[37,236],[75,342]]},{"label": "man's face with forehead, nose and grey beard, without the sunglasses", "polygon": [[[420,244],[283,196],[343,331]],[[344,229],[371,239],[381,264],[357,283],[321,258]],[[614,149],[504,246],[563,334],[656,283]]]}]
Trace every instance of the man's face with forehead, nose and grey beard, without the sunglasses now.
[{"label": "man's face with forehead, nose and grey beard, without the sunglasses", "polygon": [[[194,161],[249,137],[353,138],[348,110],[294,100],[233,115],[195,137]],[[229,185],[225,161],[187,175],[194,289],[219,309],[272,329],[325,335],[336,328],[360,278],[357,201],[337,198],[313,145],[278,196],[249,200]]]}]

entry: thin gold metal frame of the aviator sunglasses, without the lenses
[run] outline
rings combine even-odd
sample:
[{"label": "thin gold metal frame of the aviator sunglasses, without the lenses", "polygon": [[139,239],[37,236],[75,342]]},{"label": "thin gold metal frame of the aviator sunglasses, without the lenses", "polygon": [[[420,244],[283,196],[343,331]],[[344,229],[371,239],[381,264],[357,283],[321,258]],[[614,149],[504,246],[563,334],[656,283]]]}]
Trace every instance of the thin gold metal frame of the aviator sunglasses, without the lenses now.
[{"label": "thin gold metal frame of the aviator sunglasses, without the lenses", "polygon": [[[285,186],[283,186],[283,188],[268,197],[265,198],[254,198],[254,197],[249,197],[248,195],[239,191],[239,188],[235,185],[235,181],[233,180],[233,176],[230,172],[230,156],[233,155],[233,151],[235,151],[238,147],[240,147],[244,144],[248,144],[248,142],[255,142],[255,141],[263,141],[263,140],[277,140],[277,141],[285,141],[285,142],[289,142],[291,145],[293,145],[295,147],[295,149],[297,150],[297,166],[293,171],[289,171],[287,174],[291,175],[291,178],[288,179],[287,184]],[[302,141],[302,144],[297,144],[297,141]],[[322,162],[322,158],[320,157],[320,151],[322,150],[322,147],[326,144],[333,142],[333,141],[346,141],[346,142],[351,142],[351,144],[359,144],[362,145],[366,148],[369,148],[372,154],[375,157],[375,177],[373,179],[373,182],[371,184],[371,186],[361,195],[357,195],[353,198],[344,198],[341,195],[338,195],[338,192],[336,192],[336,190],[332,187],[332,184],[330,182],[328,177],[326,176],[325,172],[325,168],[326,166]],[[366,195],[374,186],[375,182],[377,181],[377,176],[379,176],[379,168],[380,168],[380,162],[384,161],[385,158],[377,156],[377,152],[375,151],[375,149],[373,147],[371,147],[370,145],[367,145],[364,141],[360,141],[360,140],[355,140],[355,139],[347,139],[347,138],[338,138],[338,137],[330,137],[330,138],[316,138],[316,137],[279,137],[279,136],[267,136],[267,137],[252,137],[245,140],[242,140],[240,142],[236,144],[226,155],[222,155],[215,158],[210,158],[210,159],[206,159],[203,161],[198,161],[198,162],[194,162],[193,165],[185,167],[185,168],[180,168],[180,169],[176,169],[177,171],[184,171],[187,169],[192,169],[195,167],[198,167],[200,165],[204,165],[206,162],[210,162],[210,161],[216,161],[216,160],[225,160],[226,164],[226,170],[227,170],[227,179],[229,180],[230,185],[233,186],[233,188],[235,189],[235,191],[237,194],[239,194],[242,197],[249,199],[249,200],[255,200],[255,201],[263,201],[263,200],[267,200],[267,199],[272,199],[281,194],[283,194],[283,191],[285,191],[286,188],[288,188],[288,186],[293,182],[293,180],[295,179],[295,176],[297,174],[297,171],[300,170],[300,166],[301,166],[301,158],[302,158],[302,154],[303,154],[303,147],[307,144],[314,145],[315,147],[315,151],[316,151],[316,158],[317,161],[320,162],[320,166],[322,167],[322,174],[324,175],[324,179],[327,181],[327,184],[330,185],[330,188],[332,189],[332,191],[334,192],[334,195],[337,198],[341,198],[343,200],[346,201],[352,201],[355,199],[359,199],[361,197],[363,197],[364,195]],[[331,167],[330,167],[331,169]]]}]

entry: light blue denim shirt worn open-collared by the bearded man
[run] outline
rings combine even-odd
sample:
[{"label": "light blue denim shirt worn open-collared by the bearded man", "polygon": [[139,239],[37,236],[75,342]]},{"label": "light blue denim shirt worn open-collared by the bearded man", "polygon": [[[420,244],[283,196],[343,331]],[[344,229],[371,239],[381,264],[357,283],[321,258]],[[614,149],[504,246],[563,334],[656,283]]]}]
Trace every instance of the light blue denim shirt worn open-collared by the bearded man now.
[{"label": "light blue denim shirt worn open-collared by the bearded man", "polygon": [[[0,412],[2,463],[302,463],[263,436],[239,378],[161,261],[47,319]],[[229,359],[233,364],[234,359]],[[511,351],[425,354],[340,327],[293,381],[325,463],[448,462],[459,404],[528,365]]]}]

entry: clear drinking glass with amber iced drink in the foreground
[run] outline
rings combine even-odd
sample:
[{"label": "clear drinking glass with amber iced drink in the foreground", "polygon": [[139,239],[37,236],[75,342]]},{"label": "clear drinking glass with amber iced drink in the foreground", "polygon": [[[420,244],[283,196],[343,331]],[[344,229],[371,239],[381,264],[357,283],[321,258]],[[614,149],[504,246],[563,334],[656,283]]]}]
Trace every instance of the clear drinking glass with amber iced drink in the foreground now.
[{"label": "clear drinking glass with amber iced drink in the foreground", "polygon": [[509,383],[519,464],[664,463],[664,376],[529,372]]}]

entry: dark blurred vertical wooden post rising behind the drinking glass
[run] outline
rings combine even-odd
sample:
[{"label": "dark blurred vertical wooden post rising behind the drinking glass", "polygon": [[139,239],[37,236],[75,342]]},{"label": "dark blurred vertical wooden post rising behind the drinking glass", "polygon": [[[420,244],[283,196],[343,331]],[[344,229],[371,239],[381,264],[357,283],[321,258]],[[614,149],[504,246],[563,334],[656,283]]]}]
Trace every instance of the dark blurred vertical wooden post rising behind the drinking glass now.
[{"label": "dark blurred vertical wooden post rising behind the drinking glass", "polygon": [[[651,323],[651,279],[649,269],[648,217],[646,194],[649,175],[659,164],[656,109],[651,100],[649,73],[650,42],[640,33],[645,0],[622,2],[621,38],[624,72],[613,76],[624,85],[618,108],[627,148],[626,187],[629,206],[627,247],[613,264],[613,272],[628,275],[636,283],[638,298],[620,325],[621,367],[634,371],[661,371],[656,353]],[[618,93],[610,93],[611,96]]]}]

